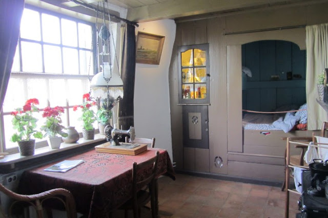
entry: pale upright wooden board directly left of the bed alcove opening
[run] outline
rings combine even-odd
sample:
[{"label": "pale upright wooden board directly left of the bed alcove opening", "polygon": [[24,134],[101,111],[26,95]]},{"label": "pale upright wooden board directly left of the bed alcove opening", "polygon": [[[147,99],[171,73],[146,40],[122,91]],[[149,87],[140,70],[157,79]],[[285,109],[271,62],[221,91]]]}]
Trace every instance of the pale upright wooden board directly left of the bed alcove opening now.
[{"label": "pale upright wooden board directly left of the bed alcove opening", "polygon": [[228,151],[242,152],[241,46],[227,46]]}]

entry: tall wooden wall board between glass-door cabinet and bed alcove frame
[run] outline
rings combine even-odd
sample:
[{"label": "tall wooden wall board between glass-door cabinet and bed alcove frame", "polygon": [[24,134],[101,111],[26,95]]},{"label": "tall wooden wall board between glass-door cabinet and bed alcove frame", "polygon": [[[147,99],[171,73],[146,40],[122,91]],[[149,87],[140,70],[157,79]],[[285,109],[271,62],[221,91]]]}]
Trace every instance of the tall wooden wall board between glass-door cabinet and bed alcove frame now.
[{"label": "tall wooden wall board between glass-door cabinet and bed alcove frame", "polygon": [[[210,172],[228,172],[228,141],[227,141],[227,47],[223,32],[226,19],[217,17],[208,19],[208,43],[210,46],[210,92],[209,106],[209,141],[210,141]],[[214,165],[214,158],[221,157],[223,167]],[[213,161],[212,161],[213,160]]]}]

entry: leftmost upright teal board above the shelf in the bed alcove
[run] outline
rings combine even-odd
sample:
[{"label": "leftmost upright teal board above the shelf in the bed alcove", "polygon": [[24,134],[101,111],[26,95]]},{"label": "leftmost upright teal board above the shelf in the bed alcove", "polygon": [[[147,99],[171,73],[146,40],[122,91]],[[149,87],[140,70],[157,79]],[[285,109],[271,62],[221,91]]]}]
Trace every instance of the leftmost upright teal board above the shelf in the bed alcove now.
[{"label": "leftmost upright teal board above the shelf in the bed alcove", "polygon": [[[260,81],[260,53],[259,42],[250,42],[244,45],[243,66],[248,67],[252,72],[252,77],[248,77],[247,81]],[[243,54],[243,52],[242,52]]]}]

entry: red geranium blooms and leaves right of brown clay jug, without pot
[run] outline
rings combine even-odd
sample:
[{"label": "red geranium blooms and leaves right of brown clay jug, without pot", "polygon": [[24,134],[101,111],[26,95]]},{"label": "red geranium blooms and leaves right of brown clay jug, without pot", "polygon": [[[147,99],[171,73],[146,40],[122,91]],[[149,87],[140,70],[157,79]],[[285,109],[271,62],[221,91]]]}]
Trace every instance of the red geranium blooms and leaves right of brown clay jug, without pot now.
[{"label": "red geranium blooms and leaves right of brown clay jug, without pot", "polygon": [[91,107],[93,105],[96,105],[96,102],[90,99],[89,93],[83,95],[83,100],[84,100],[83,104],[75,105],[73,107],[73,111],[76,111],[78,107],[81,108],[82,116],[79,118],[79,120],[83,121],[82,127],[85,128],[86,130],[92,130],[93,123],[94,121],[96,121],[96,115]]}]

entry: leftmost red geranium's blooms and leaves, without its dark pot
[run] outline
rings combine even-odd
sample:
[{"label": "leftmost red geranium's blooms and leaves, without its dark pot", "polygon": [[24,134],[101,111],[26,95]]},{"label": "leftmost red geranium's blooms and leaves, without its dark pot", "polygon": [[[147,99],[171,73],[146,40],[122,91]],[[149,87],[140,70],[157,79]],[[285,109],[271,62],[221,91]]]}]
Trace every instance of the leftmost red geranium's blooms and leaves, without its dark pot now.
[{"label": "leftmost red geranium's blooms and leaves, without its dark pot", "polygon": [[13,128],[17,130],[17,133],[12,135],[11,141],[28,141],[31,136],[34,138],[42,139],[42,133],[35,130],[36,122],[38,119],[33,117],[33,112],[39,112],[39,101],[36,98],[31,98],[26,101],[23,108],[18,107],[14,112],[11,112]]}]

